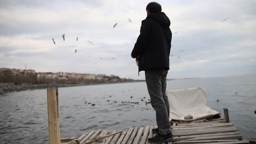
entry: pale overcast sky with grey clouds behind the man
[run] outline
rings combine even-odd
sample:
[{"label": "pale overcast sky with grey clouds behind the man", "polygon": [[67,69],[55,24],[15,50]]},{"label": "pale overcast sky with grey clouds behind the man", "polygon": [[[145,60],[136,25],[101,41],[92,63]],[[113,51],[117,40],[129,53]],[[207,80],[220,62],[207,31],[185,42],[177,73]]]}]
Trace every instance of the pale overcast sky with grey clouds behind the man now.
[{"label": "pale overcast sky with grey clouds behind the man", "polygon": [[[1,0],[0,68],[25,69],[26,64],[36,72],[144,79],[130,54],[149,2]],[[170,18],[173,33],[167,78],[256,73],[256,0],[156,2]]]}]

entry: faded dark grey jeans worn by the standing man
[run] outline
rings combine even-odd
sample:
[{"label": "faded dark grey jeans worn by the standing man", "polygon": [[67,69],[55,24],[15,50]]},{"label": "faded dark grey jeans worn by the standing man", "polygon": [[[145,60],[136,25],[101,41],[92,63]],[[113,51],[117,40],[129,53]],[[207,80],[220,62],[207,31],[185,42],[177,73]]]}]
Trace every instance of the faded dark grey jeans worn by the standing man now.
[{"label": "faded dark grey jeans worn by the standing man", "polygon": [[145,78],[148,93],[151,98],[151,105],[156,111],[157,125],[159,133],[168,134],[171,129],[169,121],[170,105],[166,94],[166,76],[168,71],[165,69],[146,70]]}]

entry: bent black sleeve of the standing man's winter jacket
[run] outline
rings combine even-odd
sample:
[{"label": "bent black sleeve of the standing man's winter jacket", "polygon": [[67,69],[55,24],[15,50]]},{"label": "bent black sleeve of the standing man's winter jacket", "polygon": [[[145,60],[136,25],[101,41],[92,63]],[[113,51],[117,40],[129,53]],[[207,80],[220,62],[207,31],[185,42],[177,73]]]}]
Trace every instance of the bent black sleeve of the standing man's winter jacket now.
[{"label": "bent black sleeve of the standing man's winter jacket", "polygon": [[137,57],[147,49],[149,33],[150,33],[149,23],[143,20],[141,22],[140,35],[138,36],[137,42],[135,43],[135,46],[131,52],[131,56]]}]

